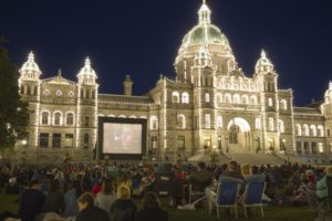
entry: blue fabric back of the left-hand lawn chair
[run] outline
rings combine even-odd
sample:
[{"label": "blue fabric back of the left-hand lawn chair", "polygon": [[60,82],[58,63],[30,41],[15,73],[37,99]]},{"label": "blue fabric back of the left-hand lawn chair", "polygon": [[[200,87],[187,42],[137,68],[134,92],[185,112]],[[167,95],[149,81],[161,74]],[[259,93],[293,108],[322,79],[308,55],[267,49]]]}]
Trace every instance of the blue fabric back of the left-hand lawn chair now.
[{"label": "blue fabric back of the left-hand lawn chair", "polygon": [[234,180],[221,181],[217,190],[217,203],[219,206],[234,206],[239,194],[239,182]]}]

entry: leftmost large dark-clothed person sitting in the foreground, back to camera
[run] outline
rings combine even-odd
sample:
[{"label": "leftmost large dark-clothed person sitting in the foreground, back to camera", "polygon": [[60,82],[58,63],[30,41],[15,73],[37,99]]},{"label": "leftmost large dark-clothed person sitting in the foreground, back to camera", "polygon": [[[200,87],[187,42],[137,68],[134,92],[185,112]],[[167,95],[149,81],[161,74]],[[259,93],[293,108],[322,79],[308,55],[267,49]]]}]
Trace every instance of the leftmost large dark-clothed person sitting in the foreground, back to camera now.
[{"label": "leftmost large dark-clothed person sitting in the foreground, back to camera", "polygon": [[32,180],[30,189],[23,191],[19,202],[19,215],[22,221],[33,221],[42,212],[45,196],[39,180]]}]

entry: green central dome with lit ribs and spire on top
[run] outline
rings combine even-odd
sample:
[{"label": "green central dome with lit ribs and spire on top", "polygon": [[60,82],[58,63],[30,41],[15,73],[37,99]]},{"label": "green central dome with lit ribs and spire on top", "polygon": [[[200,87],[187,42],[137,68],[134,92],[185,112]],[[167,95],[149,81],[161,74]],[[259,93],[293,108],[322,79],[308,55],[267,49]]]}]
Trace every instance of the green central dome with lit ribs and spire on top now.
[{"label": "green central dome with lit ribs and spire on top", "polygon": [[216,44],[230,49],[228,39],[220,29],[210,22],[211,11],[204,3],[198,11],[199,23],[183,39],[180,51],[187,46]]}]

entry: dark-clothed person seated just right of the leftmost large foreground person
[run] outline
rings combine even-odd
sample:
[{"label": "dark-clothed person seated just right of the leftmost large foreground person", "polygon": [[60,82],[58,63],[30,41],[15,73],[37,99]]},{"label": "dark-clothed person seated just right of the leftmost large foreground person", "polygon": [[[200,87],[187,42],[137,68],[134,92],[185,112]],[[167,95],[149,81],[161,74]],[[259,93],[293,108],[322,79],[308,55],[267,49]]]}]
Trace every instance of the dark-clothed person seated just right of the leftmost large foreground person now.
[{"label": "dark-clothed person seated just right of the leftmost large foreground person", "polygon": [[54,179],[46,196],[43,212],[55,212],[62,214],[64,210],[64,193],[61,191],[59,180]]}]

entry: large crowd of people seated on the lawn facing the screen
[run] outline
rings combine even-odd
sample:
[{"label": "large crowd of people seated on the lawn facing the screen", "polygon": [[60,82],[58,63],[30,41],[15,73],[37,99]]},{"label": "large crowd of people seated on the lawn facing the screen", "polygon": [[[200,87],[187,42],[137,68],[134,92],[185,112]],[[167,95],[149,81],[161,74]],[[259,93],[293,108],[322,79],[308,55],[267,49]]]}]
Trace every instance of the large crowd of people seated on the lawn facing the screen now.
[{"label": "large crowd of people seated on the lawn facing the screen", "polygon": [[[222,179],[239,180],[240,194],[246,183],[266,182],[263,201],[274,206],[304,206],[311,209],[326,197],[326,177],[332,167],[249,166],[228,164],[69,164],[62,166],[24,166],[4,164],[0,188],[19,196],[18,214],[4,217],[33,220],[148,221],[168,220],[158,198],[160,177],[169,178],[166,188],[168,207],[187,203],[190,190],[205,193],[207,201],[216,194]],[[136,206],[142,198],[142,207]]]}]

